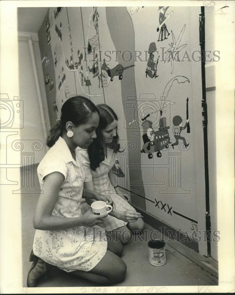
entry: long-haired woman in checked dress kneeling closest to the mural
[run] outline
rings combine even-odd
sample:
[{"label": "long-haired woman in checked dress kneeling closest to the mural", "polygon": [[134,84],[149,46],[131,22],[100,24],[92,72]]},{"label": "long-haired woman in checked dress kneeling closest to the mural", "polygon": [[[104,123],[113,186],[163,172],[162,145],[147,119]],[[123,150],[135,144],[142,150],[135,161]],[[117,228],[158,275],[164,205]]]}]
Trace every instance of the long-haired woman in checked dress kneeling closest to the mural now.
[{"label": "long-haired woman in checked dress kneeling closest to the mural", "polygon": [[[114,189],[116,186],[112,171],[114,153],[120,151],[118,117],[106,104],[99,104],[97,108],[99,109],[97,138],[87,150],[79,150],[86,175],[84,187],[111,196],[116,209],[104,219],[103,227],[109,235],[125,243],[130,241],[131,232],[143,230],[144,223],[140,213],[129,204],[128,194],[123,194],[119,187]],[[91,203],[91,199],[87,200],[87,204],[83,203],[82,211],[85,212]]]}]

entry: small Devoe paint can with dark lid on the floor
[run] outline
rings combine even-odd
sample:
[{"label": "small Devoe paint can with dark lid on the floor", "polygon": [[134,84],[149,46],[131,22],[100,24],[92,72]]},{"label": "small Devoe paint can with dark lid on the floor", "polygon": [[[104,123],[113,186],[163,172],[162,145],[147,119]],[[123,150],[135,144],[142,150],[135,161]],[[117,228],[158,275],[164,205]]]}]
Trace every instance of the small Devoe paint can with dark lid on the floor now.
[{"label": "small Devoe paint can with dark lid on the floor", "polygon": [[163,266],[166,264],[164,241],[155,239],[148,242],[148,261],[153,266]]}]

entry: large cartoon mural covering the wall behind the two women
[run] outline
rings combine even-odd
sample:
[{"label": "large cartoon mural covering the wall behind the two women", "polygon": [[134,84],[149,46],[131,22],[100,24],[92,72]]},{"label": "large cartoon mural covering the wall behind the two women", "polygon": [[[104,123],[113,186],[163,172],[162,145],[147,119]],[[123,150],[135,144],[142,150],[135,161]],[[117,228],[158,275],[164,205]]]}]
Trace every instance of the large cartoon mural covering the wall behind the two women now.
[{"label": "large cartoon mural covering the wall behind the two women", "polygon": [[[125,14],[123,11],[125,8],[122,8],[123,10],[119,8],[122,14],[119,13],[115,17],[115,7],[109,9],[105,7],[51,7],[42,24],[41,35],[39,34],[40,51],[43,57],[43,76],[48,108],[53,113],[50,113],[51,126],[55,124],[55,118],[59,119],[63,102],[74,95],[83,94],[92,99],[95,104],[107,103],[115,111],[119,108],[117,113],[124,119],[124,121],[120,120],[120,129],[124,135],[126,134],[128,142],[136,139],[136,141],[139,140],[139,144],[136,149],[138,156],[136,153],[133,156],[134,152],[128,151],[125,155],[125,163],[122,162],[123,155],[117,155],[118,158],[115,158],[113,167],[115,176],[127,187],[126,179],[133,169],[131,165],[139,161],[141,173],[138,177],[142,184],[140,185],[140,180],[136,179],[137,172],[134,169],[132,173],[134,176],[130,178],[130,183],[133,187],[135,186],[133,182],[138,182],[139,187],[136,185],[135,191],[143,196],[146,211],[154,213],[166,222],[169,221],[168,217],[171,218],[174,214],[178,214],[179,219],[175,227],[184,229],[191,227],[191,224],[185,224],[184,227],[180,218],[187,219],[186,217],[189,216],[188,220],[191,218],[197,222],[195,209],[190,209],[195,208],[194,179],[189,180],[189,169],[194,165],[191,163],[194,147],[190,149],[191,135],[189,137],[188,133],[190,133],[190,127],[191,130],[195,130],[195,124],[192,118],[193,110],[191,105],[189,108],[188,100],[185,115],[185,100],[187,96],[190,102],[191,97],[193,99],[190,92],[192,87],[189,85],[192,67],[191,63],[185,63],[182,67],[182,61],[178,58],[178,54],[182,54],[182,49],[187,46],[186,43],[190,45],[190,32],[186,29],[186,24],[187,28],[190,27],[188,25],[190,11],[176,7],[170,9],[161,6],[160,9],[158,8],[160,7],[156,7],[155,11],[151,7],[126,8],[128,15],[122,20],[123,22],[125,20],[124,23],[130,20],[133,30],[128,29],[131,27],[129,24],[126,28],[127,32],[122,34],[123,24],[117,25],[117,20],[120,15]],[[168,11],[171,12],[167,14]],[[111,12],[112,17],[110,17]],[[51,17],[53,14],[54,17]],[[158,14],[159,24],[156,24]],[[174,17],[176,15],[177,19]],[[143,25],[146,19],[148,23]],[[157,26],[159,27],[156,35]],[[174,28],[174,33],[172,28]],[[128,41],[122,40],[124,35],[128,36]],[[168,40],[164,41],[167,38]],[[163,43],[157,43],[158,39]],[[170,47],[163,52],[164,59],[161,60],[160,53],[155,54],[159,50],[156,44],[164,44],[164,42],[169,42]],[[148,49],[148,55],[142,63],[136,60],[125,63],[123,58],[109,60],[99,53],[99,50],[103,53],[105,50],[121,50],[122,52],[136,50],[143,53],[146,49]],[[167,64],[164,65],[170,62],[171,71],[167,70]],[[143,77],[144,72],[146,78]],[[154,96],[152,104],[150,104],[151,99],[148,99],[151,94]],[[135,99],[128,99],[128,95],[135,96]],[[143,95],[145,99],[142,99]],[[125,99],[128,99],[128,105],[136,104],[133,108],[138,109],[138,115],[133,115],[134,109],[130,106],[124,107]],[[189,117],[191,126],[189,126]],[[122,125],[123,122],[125,127]],[[138,157],[139,160],[137,160]],[[193,173],[192,171],[191,174],[194,176]],[[140,186],[143,191],[141,193],[139,192],[141,191]],[[187,205],[184,207],[183,204]],[[140,207],[142,208],[142,204]]]}]

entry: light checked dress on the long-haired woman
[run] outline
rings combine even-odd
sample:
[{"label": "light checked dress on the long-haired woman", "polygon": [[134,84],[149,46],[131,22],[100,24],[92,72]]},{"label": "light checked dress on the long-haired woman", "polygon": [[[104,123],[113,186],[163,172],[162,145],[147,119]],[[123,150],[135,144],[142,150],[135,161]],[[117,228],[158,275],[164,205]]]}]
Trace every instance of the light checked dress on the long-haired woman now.
[{"label": "light checked dress on the long-haired woman", "polygon": [[[97,191],[99,194],[109,195],[115,203],[115,206],[118,210],[124,211],[130,209],[136,211],[127,201],[118,196],[114,187],[110,183],[108,173],[114,165],[114,154],[112,150],[107,150],[107,158],[99,163],[99,167],[95,171],[90,168],[90,161],[87,150],[79,149],[81,163],[85,171],[84,182],[93,181],[94,191]],[[123,208],[124,207],[124,208]],[[89,208],[89,205],[85,202],[82,203],[82,211],[85,212]],[[125,226],[128,222],[124,222],[116,217],[108,215],[103,219],[102,227],[107,230],[115,230],[119,227]]]}]

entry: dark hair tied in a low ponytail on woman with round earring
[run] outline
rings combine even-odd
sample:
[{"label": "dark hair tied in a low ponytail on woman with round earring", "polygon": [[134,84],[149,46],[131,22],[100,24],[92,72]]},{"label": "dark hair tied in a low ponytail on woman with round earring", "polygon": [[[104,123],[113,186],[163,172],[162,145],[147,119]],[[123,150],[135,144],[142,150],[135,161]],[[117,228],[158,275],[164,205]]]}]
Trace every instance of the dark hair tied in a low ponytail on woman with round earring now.
[{"label": "dark hair tied in a low ponytail on woman with round earring", "polygon": [[61,119],[50,130],[50,135],[47,137],[47,146],[51,148],[58,138],[66,131],[66,123],[72,122],[75,127],[85,124],[92,113],[99,110],[93,102],[83,96],[74,96],[65,101],[61,108]]}]

